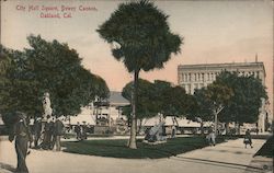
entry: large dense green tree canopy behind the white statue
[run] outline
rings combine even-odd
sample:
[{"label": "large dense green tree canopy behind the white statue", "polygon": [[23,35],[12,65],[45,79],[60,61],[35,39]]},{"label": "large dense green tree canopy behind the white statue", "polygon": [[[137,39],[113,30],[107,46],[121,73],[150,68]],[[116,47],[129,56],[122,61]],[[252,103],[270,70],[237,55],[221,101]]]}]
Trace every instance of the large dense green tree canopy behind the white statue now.
[{"label": "large dense green tree canopy behind the white statue", "polygon": [[80,107],[95,96],[109,96],[105,81],[84,69],[78,53],[67,44],[56,39],[47,42],[39,35],[30,35],[27,41],[31,48],[22,51],[3,49],[10,66],[5,72],[7,94],[0,95],[4,97],[1,114],[22,111],[30,116],[41,116],[45,92],[50,94],[55,116],[77,115]]}]

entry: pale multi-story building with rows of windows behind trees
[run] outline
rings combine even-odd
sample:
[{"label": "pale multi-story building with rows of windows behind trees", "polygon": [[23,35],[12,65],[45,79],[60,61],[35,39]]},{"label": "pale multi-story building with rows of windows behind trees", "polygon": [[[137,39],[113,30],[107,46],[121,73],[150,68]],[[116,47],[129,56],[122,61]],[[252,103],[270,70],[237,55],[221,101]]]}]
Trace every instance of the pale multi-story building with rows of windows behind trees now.
[{"label": "pale multi-story building with rows of windows behind trees", "polygon": [[[207,86],[216,80],[221,71],[236,71],[240,76],[251,76],[261,79],[265,85],[265,69],[263,62],[231,62],[231,64],[204,64],[204,65],[180,65],[178,67],[178,83],[183,86],[189,94],[193,94],[195,89]],[[265,101],[262,100],[260,108],[259,129],[264,131],[265,124]]]}]

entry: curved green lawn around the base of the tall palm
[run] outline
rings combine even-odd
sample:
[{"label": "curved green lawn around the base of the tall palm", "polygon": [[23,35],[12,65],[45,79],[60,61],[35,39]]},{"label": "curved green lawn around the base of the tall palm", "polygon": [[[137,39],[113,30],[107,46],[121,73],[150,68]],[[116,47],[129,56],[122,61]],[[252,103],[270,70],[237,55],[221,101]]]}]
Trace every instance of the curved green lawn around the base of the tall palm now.
[{"label": "curved green lawn around the base of the tall palm", "polygon": [[[217,142],[224,142],[225,138],[217,138]],[[147,145],[137,141],[138,149],[129,149],[126,147],[127,140],[83,140],[83,141],[66,141],[62,147],[66,147],[65,152],[111,157],[111,158],[127,158],[127,159],[144,159],[144,158],[168,158],[184,153],[191,150],[201,149],[208,146],[205,137],[182,137],[168,139],[165,143]]]}]

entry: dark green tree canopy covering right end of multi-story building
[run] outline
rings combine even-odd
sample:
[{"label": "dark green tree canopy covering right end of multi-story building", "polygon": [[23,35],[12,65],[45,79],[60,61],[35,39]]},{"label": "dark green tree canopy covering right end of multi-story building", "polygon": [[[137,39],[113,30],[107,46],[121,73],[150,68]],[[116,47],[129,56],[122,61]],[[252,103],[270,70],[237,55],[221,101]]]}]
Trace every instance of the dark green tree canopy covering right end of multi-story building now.
[{"label": "dark green tree canopy covering right end of multi-story building", "polygon": [[267,99],[265,86],[254,76],[238,76],[237,72],[224,71],[217,82],[225,83],[235,93],[220,114],[220,120],[230,123],[255,123],[262,106],[262,99]]}]

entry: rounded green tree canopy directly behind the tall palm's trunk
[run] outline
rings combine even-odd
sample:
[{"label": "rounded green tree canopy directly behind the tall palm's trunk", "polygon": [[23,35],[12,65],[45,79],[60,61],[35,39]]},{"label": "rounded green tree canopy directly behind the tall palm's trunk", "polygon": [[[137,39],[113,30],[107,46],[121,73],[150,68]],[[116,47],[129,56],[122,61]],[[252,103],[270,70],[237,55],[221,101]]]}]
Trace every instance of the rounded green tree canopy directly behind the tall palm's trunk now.
[{"label": "rounded green tree canopy directly behind the tall palm's trunk", "polygon": [[[132,102],[133,82],[123,89],[123,96]],[[190,95],[181,86],[173,86],[170,82],[156,80],[153,83],[139,79],[137,118],[150,118],[158,114],[167,116],[185,116],[191,111]],[[128,107],[125,113],[130,115]],[[130,117],[128,117],[130,118]]]}]

